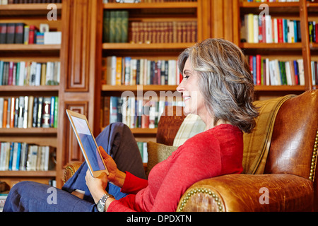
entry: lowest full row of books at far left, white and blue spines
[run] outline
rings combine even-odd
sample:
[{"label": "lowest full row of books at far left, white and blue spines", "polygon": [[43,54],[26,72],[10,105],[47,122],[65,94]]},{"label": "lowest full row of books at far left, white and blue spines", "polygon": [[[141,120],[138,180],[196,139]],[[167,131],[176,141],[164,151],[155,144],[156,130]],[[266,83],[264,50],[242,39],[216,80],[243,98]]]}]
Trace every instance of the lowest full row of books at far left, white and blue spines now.
[{"label": "lowest full row of books at far left, white and blue spines", "polygon": [[19,142],[0,142],[0,171],[48,171],[55,168],[56,148]]}]

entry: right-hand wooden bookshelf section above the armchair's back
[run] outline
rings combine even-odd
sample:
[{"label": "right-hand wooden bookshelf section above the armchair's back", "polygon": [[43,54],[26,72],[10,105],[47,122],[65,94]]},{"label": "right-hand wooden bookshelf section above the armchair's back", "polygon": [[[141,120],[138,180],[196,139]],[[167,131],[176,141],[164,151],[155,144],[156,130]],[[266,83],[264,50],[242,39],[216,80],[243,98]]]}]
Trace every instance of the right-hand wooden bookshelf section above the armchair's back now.
[{"label": "right-hand wooden bookshelf section above the armchair's back", "polygon": [[[261,42],[260,40],[255,41],[250,39],[251,35],[250,30],[246,32],[246,30],[242,29],[242,27],[246,27],[248,20],[247,15],[259,15],[261,11],[264,10],[264,7],[260,7],[261,4],[266,4],[268,6],[269,15],[271,16],[271,25],[273,26],[273,20],[290,20],[290,21],[299,21],[300,25],[300,34],[301,41],[293,40],[288,42],[278,42],[277,37],[273,36],[273,42],[269,43],[267,40]],[[311,16],[310,20],[317,20],[317,16],[314,16],[314,12],[317,13],[317,4],[312,4],[307,2],[306,0],[300,0],[299,2],[247,2],[247,1],[234,1],[233,3],[233,23],[238,24],[237,28],[233,29],[233,42],[237,44],[239,47],[247,55],[261,55],[261,57],[268,58],[269,61],[273,59],[278,59],[278,61],[295,61],[298,59],[302,59],[303,61],[303,71],[305,74],[305,83],[297,84],[297,85],[255,85],[256,96],[257,99],[275,97],[280,95],[285,95],[288,93],[300,94],[305,90],[311,90],[316,88],[315,85],[312,84],[311,73],[310,73],[310,61],[311,55],[314,53],[314,48],[316,43],[309,42],[308,35],[308,19]],[[239,10],[235,10],[235,8],[239,8]],[[252,24],[253,25],[253,24]],[[249,24],[248,29],[250,29],[251,25]],[[254,27],[259,29],[258,27]],[[254,32],[254,28],[252,28],[252,32]],[[274,29],[274,27],[272,27]],[[296,29],[296,27],[294,27]],[[261,32],[261,31],[259,31]],[[263,30],[264,32],[264,30]],[[244,35],[246,34],[246,35]],[[257,34],[259,34],[257,32]],[[263,34],[263,33],[261,33]],[[263,34],[264,35],[264,34]],[[268,34],[266,34],[268,35]],[[274,33],[273,33],[274,35]],[[279,32],[278,32],[279,35]],[[285,33],[284,33],[285,35]],[[297,38],[297,34],[295,34],[295,38]],[[283,35],[282,35],[283,36]],[[287,35],[286,35],[287,38]],[[254,43],[253,43],[254,42]],[[256,42],[256,43],[255,43]],[[290,43],[292,42],[292,43]],[[314,59],[314,58],[313,58]],[[298,64],[299,65],[299,64]],[[299,77],[298,77],[299,78]]]}]

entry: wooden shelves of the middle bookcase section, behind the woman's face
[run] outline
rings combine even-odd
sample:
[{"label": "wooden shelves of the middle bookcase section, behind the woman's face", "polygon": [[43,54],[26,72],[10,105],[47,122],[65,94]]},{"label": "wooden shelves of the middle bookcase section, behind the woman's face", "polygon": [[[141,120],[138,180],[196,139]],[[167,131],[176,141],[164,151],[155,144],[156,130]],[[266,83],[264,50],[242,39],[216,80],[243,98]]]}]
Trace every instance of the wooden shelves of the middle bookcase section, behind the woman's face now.
[{"label": "wooden shelves of the middle bookcase section, behind the woman's face", "polygon": [[[139,3],[139,4],[104,4],[104,13],[112,10],[129,11],[129,28],[134,21],[138,22],[163,22],[163,21],[195,21],[196,38],[203,40],[208,37],[206,30],[211,30],[210,23],[204,20],[204,15],[209,15],[209,1],[194,2],[165,2],[165,3]],[[205,32],[204,32],[205,31]],[[103,43],[102,57],[132,57],[150,60],[177,59],[183,49],[192,46],[189,43]],[[176,91],[177,85],[143,85],[143,93],[147,91]],[[124,91],[136,93],[137,85],[102,85],[102,96],[120,96]],[[137,141],[155,140],[156,129],[131,129]]]}]

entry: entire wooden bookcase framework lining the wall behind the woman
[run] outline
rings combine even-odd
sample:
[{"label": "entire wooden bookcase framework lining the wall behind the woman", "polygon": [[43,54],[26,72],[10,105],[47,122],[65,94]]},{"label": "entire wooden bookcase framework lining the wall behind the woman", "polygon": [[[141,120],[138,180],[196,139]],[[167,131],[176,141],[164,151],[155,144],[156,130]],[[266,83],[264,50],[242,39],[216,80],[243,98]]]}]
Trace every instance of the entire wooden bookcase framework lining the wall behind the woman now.
[{"label": "entire wooden bookcase framework lining the wall behind the woman", "polygon": [[[59,17],[50,27],[62,32],[61,45],[1,44],[0,59],[61,61],[61,81],[57,86],[0,87],[0,96],[57,95],[59,96],[59,122],[57,129],[0,129],[0,141],[36,141],[57,147],[57,169],[52,172],[0,172],[0,179],[11,182],[31,179],[46,183],[57,179],[63,185],[64,168],[71,162],[83,162],[69,125],[65,109],[86,114],[94,135],[98,136],[102,97],[120,96],[125,91],[138,91],[136,85],[102,84],[102,58],[109,56],[146,59],[177,59],[183,49],[194,43],[131,44],[102,42],[104,11],[127,10],[129,23],[133,21],[195,20],[197,40],[223,37],[241,47],[246,54],[263,54],[271,58],[302,58],[305,65],[305,85],[257,85],[257,99],[285,94],[300,94],[316,89],[313,85],[310,61],[318,59],[318,46],[308,41],[308,20],[318,22],[317,4],[305,0],[297,3],[268,3],[269,13],[285,18],[298,18],[302,25],[302,42],[293,44],[249,44],[240,42],[241,18],[245,13],[259,13],[260,3],[240,0],[197,0],[196,2],[165,2],[141,4],[102,4],[102,0],[68,0],[57,4]],[[0,23],[47,22],[47,4],[0,6]],[[23,9],[22,9],[23,8]],[[22,10],[21,10],[22,9]],[[50,22],[51,23],[51,22]],[[143,85],[143,92],[172,91],[177,85]],[[132,129],[137,141],[155,140],[156,129]]]}]

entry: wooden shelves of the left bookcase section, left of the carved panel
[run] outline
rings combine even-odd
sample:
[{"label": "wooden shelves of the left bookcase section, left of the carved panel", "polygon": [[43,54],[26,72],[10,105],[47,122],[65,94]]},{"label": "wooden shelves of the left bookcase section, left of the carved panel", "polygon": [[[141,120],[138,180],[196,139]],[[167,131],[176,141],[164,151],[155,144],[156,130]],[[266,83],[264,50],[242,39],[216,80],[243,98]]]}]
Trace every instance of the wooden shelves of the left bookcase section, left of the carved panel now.
[{"label": "wooden shelves of the left bookcase section, left of the carved panel", "polygon": [[[8,4],[0,5],[0,23],[25,23],[25,25],[35,25],[39,28],[40,23],[49,24],[49,31],[61,31],[61,8],[57,6],[57,20],[47,20],[48,4]],[[0,44],[0,61],[5,62],[31,62],[40,64],[48,61],[60,61],[61,44]],[[2,79],[2,78],[1,78]],[[2,84],[2,83],[1,83]],[[60,85],[0,85],[0,97],[58,97]],[[3,107],[3,106],[2,106]],[[2,120],[2,119],[1,119]],[[4,126],[6,127],[6,126]],[[33,127],[0,128],[0,142],[28,143],[39,146],[52,146],[57,148],[57,128]],[[54,155],[58,155],[59,150],[54,150]],[[23,180],[33,180],[49,184],[57,179],[58,167],[47,171],[35,170],[2,170],[0,180],[13,186]]]}]

